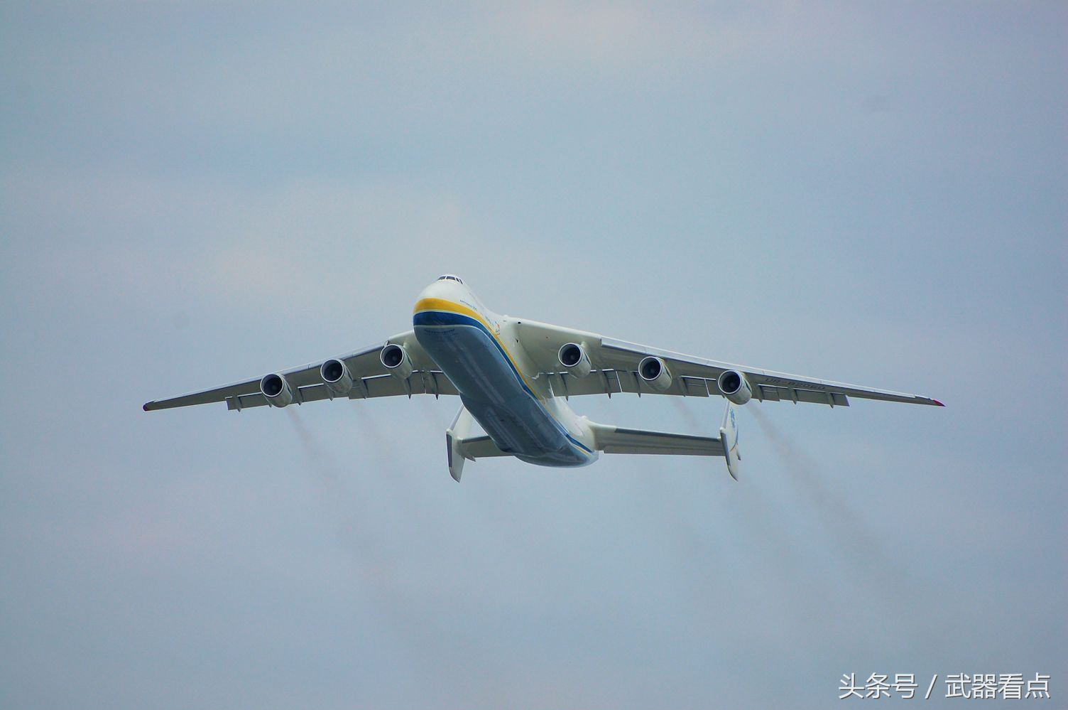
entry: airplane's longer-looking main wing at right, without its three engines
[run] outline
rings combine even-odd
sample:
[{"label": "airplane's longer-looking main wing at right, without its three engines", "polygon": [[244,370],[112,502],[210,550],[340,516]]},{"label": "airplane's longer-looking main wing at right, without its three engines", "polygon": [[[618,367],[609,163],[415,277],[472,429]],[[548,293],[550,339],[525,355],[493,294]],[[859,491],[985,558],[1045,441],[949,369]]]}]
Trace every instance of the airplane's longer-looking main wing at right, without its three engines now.
[{"label": "airplane's longer-looking main wing at right, without its three engines", "polygon": [[[637,392],[639,396],[723,396],[717,381],[723,372],[735,370],[745,375],[753,387],[753,398],[761,402],[786,400],[830,406],[849,406],[849,398],[859,397],[888,402],[944,406],[938,400],[929,397],[847,385],[829,380],[815,380],[744,365],[718,362],[624,340],[604,338],[595,333],[572,330],[525,319],[517,327],[520,331],[523,349],[535,362],[541,365],[541,374],[538,376],[548,376],[552,390],[557,396],[612,396],[615,392]],[[580,343],[586,350],[593,367],[588,375],[576,377],[564,371],[561,366],[557,353],[564,344],[569,342]],[[662,359],[671,374],[671,386],[662,391],[654,389],[639,375],[639,362],[649,356]]]}]

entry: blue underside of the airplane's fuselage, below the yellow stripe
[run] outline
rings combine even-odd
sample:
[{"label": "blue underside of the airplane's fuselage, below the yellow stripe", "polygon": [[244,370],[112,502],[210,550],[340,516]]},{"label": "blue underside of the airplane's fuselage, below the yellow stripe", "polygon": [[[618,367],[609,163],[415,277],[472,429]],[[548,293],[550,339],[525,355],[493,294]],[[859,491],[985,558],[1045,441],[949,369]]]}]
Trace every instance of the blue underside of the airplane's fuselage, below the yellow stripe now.
[{"label": "blue underside of the airplane's fuselage, below the yellow stripe", "polygon": [[581,466],[590,456],[519,380],[485,327],[466,315],[421,311],[415,338],[460,392],[498,448],[543,466]]}]

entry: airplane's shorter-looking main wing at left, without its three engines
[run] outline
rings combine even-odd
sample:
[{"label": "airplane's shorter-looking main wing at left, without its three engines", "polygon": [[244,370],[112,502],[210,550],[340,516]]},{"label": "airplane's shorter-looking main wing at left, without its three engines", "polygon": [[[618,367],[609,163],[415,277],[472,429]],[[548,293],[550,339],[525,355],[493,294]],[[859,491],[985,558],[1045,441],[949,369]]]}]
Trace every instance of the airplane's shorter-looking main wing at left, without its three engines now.
[{"label": "airplane's shorter-looking main wing at left, without its three engines", "polygon": [[[382,348],[389,344],[402,345],[411,359],[411,376],[402,380],[390,374],[379,358]],[[335,359],[345,362],[352,375],[352,388],[348,399],[365,399],[368,397],[393,397],[396,395],[455,395],[456,387],[438,370],[409,330],[393,336],[378,345],[358,350]],[[324,399],[334,399],[337,395],[330,391],[319,375],[323,362],[310,362],[299,368],[284,370],[282,374],[293,391],[293,401],[297,403],[314,402]],[[266,406],[267,398],[260,391],[260,377],[236,382],[214,389],[190,392],[180,397],[158,400],[146,403],[145,412],[167,410],[174,406],[190,406],[207,404],[208,402],[225,402],[230,410],[244,410],[248,406]]]}]

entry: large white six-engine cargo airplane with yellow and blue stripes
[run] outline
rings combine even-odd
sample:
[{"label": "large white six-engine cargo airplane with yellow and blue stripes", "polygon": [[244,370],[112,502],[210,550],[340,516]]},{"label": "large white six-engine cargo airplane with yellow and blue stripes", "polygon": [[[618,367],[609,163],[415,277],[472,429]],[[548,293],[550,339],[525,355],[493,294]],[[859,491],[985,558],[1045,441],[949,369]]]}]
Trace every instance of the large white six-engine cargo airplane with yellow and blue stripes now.
[{"label": "large white six-engine cargo airplane with yellow and blue stripes", "polygon": [[[616,393],[727,400],[719,436],[628,429],[591,421],[571,397]],[[736,408],[760,402],[849,406],[849,398],[945,406],[928,397],[814,380],[607,338],[489,310],[459,277],[423,289],[412,329],[323,362],[147,402],[145,412],[208,402],[232,411],[325,399],[456,395],[445,431],[449,473],[466,461],[515,457],[539,466],[586,466],[603,453],[723,457],[737,480]],[[485,434],[472,433],[477,422]]]}]

